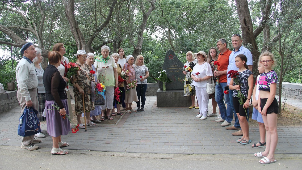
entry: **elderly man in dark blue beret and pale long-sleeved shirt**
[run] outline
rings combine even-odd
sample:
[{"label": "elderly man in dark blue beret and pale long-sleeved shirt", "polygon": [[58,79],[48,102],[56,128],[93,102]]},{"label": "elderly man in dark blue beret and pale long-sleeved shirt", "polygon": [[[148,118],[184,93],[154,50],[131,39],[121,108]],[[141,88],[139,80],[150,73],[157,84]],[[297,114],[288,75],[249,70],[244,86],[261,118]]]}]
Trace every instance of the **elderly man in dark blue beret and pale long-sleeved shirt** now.
[{"label": "elderly man in dark blue beret and pale long-sleeved shirt", "polygon": [[[25,107],[33,107],[38,110],[38,78],[35,65],[32,60],[37,56],[33,43],[26,43],[21,48],[23,58],[16,67],[16,78],[18,82],[17,98],[21,106],[21,114]],[[39,146],[34,143],[41,142],[40,139],[34,139],[34,135],[22,137],[21,148],[30,151],[39,149]]]}]

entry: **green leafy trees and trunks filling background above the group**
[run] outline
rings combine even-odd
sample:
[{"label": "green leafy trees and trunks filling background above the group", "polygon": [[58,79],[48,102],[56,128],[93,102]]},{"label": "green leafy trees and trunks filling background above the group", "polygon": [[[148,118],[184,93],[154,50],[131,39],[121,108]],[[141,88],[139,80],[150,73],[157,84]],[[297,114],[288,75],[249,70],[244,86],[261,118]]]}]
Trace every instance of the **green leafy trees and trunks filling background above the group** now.
[{"label": "green leafy trees and trunks filling background above the group", "polygon": [[301,60],[301,9],[300,0],[3,0],[0,44],[8,52],[1,60],[12,69],[29,41],[43,57],[58,42],[67,57],[78,49],[100,55],[108,45],[111,52],[122,47],[126,55],[145,55],[151,81],[169,49],[184,60],[187,51],[207,52],[226,38],[232,50],[231,35],[239,33],[254,75],[259,54],[271,51],[281,81],[300,80],[299,64],[290,61]]}]

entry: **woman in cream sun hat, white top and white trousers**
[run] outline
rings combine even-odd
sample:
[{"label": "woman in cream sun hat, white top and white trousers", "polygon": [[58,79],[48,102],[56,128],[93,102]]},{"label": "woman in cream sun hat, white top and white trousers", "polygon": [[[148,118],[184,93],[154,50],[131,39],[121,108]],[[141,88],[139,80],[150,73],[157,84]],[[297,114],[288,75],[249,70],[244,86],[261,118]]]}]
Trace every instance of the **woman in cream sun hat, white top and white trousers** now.
[{"label": "woman in cream sun hat, white top and white trousers", "polygon": [[195,86],[196,97],[199,104],[199,114],[196,118],[201,120],[207,119],[208,105],[209,105],[209,94],[207,93],[207,82],[213,77],[212,68],[207,62],[207,54],[204,51],[197,53],[198,64],[193,68],[191,78],[193,79],[192,85]]}]

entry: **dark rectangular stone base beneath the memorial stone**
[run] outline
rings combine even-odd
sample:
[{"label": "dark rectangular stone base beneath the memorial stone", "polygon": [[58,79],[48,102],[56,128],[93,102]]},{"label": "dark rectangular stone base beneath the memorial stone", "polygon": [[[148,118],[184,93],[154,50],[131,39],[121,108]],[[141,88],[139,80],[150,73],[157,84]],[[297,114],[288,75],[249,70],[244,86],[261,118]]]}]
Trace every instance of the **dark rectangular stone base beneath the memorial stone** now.
[{"label": "dark rectangular stone base beneath the memorial stone", "polygon": [[162,91],[158,89],[156,92],[157,107],[189,107],[191,104],[191,97],[184,97],[184,90]]}]

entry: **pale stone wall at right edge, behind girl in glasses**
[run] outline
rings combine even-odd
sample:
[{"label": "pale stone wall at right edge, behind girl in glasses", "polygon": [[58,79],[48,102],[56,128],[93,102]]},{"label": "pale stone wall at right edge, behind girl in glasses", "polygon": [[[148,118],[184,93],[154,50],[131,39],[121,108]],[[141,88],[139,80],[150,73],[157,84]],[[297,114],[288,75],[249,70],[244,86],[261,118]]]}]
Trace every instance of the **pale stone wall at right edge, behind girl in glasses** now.
[{"label": "pale stone wall at right edge, behind girl in glasses", "polygon": [[[278,84],[277,84],[276,95],[279,94]],[[282,82],[282,96],[302,100],[302,84]]]}]

